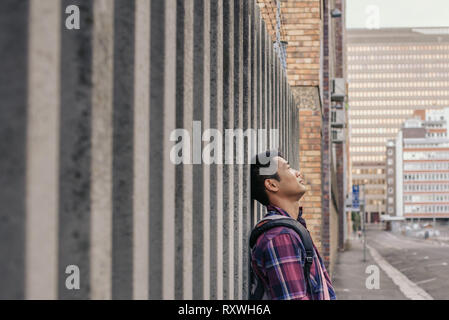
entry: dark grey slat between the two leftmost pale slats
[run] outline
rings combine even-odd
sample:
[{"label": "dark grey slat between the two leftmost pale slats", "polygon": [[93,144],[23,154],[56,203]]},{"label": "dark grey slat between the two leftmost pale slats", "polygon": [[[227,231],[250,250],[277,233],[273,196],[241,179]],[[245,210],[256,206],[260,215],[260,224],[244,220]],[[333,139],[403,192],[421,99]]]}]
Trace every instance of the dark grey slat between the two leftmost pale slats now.
[{"label": "dark grey slat between the two leftmost pale slats", "polygon": [[[64,0],[80,9],[80,30],[61,28],[58,298],[90,296],[91,132],[93,3]],[[82,54],[79,54],[82,53]],[[68,290],[67,266],[80,271],[80,288]]]}]

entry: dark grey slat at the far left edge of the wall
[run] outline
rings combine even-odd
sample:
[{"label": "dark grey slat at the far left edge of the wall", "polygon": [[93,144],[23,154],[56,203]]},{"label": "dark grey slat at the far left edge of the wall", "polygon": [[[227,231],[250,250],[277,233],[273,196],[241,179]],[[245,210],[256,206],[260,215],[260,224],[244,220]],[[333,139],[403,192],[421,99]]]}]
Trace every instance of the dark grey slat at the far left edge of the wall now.
[{"label": "dark grey slat at the far left edge of the wall", "polygon": [[[25,298],[29,1],[0,10],[0,299]],[[3,50],[7,48],[7,50]]]}]

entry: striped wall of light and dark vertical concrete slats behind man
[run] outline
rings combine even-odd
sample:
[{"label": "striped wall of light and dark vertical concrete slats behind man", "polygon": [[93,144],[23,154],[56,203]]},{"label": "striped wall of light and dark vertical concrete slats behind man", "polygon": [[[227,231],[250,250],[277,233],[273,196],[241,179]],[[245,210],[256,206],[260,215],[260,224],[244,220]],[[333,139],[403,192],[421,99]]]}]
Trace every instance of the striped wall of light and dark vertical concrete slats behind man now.
[{"label": "striped wall of light and dark vertical concrete slats behind man", "polygon": [[170,135],[276,128],[298,167],[255,0],[5,0],[0,30],[0,298],[246,298],[248,161],[175,165]]}]

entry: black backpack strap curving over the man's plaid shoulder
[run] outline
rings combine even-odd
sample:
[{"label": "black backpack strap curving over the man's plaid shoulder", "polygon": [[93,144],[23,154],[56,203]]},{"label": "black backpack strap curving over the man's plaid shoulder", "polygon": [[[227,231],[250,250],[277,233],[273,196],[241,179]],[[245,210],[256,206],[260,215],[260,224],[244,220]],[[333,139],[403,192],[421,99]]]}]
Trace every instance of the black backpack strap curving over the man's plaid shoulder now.
[{"label": "black backpack strap curving over the man's plaid shoulder", "polygon": [[[304,262],[304,277],[306,278],[307,290],[310,296],[313,297],[312,286],[310,284],[310,266],[313,262],[313,242],[309,231],[299,222],[291,218],[274,218],[274,219],[264,219],[260,221],[256,227],[252,230],[251,236],[249,238],[250,248],[253,249],[256,245],[257,239],[266,231],[276,228],[276,227],[286,227],[293,229],[301,238],[302,244],[306,251],[306,261]],[[259,281],[259,284],[261,282]],[[260,286],[262,286],[260,284]],[[263,294],[263,287],[256,288],[256,296]],[[256,298],[255,298],[256,299]],[[258,300],[258,299],[256,299]]]}]

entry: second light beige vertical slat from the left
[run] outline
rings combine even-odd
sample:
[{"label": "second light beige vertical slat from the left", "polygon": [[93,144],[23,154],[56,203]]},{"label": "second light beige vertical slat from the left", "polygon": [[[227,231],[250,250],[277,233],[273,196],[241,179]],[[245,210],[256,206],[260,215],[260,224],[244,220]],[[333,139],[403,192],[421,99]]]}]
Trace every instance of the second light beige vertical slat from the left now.
[{"label": "second light beige vertical slat from the left", "polygon": [[114,2],[94,2],[91,298],[111,298]]}]

